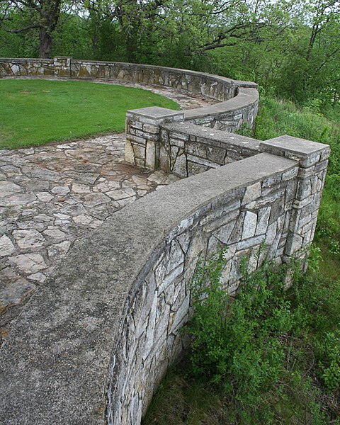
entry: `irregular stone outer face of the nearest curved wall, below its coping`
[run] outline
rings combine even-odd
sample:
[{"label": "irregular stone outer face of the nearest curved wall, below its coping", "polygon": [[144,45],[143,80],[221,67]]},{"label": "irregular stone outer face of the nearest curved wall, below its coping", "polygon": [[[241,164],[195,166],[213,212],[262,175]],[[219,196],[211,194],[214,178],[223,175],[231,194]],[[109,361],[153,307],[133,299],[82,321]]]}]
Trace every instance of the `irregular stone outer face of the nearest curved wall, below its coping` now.
[{"label": "irregular stone outer face of the nearest curved wall, below its coping", "polygon": [[[268,255],[282,261],[296,190],[297,162],[259,154],[240,162],[239,169],[271,162],[276,172],[264,172],[250,186],[236,185],[221,198],[195,210],[181,221],[155,253],[130,297],[125,326],[116,351],[108,409],[109,424],[140,424],[142,414],[167,368],[180,356],[191,305],[189,283],[198,259],[228,246],[223,270],[225,288],[237,289],[242,257],[254,271]],[[229,174],[229,179],[238,179]],[[258,258],[261,242],[266,249]]]}]

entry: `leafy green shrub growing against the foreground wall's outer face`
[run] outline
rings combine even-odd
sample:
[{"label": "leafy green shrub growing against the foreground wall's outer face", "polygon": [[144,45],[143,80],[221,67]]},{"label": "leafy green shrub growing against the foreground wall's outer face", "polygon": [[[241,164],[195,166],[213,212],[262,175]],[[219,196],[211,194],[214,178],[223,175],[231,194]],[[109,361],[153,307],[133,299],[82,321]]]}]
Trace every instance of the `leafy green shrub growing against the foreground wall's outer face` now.
[{"label": "leafy green shrub growing against the foreground wall's outer face", "polygon": [[285,268],[264,263],[249,275],[244,259],[240,289],[231,300],[221,286],[223,254],[200,264],[193,279],[191,370],[234,399],[237,423],[271,424],[276,415],[268,398],[283,399],[285,385],[292,382],[302,395],[310,391],[296,370],[286,368],[285,339],[295,312],[283,290]]}]

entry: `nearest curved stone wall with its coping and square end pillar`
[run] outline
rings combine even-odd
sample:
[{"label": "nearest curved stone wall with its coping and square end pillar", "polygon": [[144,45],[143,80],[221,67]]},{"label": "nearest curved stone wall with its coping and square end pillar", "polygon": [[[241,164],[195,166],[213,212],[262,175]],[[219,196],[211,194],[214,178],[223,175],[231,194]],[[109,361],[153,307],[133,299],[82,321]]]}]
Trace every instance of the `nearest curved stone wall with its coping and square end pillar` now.
[{"label": "nearest curved stone wall with its coping and square end pillar", "polygon": [[1,348],[1,422],[140,424],[186,344],[179,328],[198,259],[227,246],[233,292],[240,259],[259,266],[263,240],[279,263],[305,255],[329,147],[282,137],[259,151],[269,153],[137,200],[74,246]]}]

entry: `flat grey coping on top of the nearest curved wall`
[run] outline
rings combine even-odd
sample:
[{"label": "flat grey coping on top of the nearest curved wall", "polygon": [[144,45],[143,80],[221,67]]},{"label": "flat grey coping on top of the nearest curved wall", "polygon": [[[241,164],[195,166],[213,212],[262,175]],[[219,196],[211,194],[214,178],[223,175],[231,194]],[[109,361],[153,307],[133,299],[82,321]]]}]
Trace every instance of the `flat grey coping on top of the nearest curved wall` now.
[{"label": "flat grey coping on top of the nearest curved wall", "polygon": [[106,423],[125,302],[167,235],[235,189],[295,166],[262,153],[177,181],[127,205],[74,244],[1,349],[2,423]]}]

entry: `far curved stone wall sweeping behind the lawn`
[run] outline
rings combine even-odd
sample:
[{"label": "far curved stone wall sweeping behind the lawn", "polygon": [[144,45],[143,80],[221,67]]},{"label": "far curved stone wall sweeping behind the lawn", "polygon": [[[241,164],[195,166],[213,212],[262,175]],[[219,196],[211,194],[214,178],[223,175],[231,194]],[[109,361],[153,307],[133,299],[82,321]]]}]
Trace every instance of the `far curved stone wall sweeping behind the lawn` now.
[{"label": "far curved stone wall sweeping behind the lawn", "polygon": [[259,103],[259,94],[255,83],[232,80],[188,69],[145,64],[73,60],[71,57],[0,58],[0,77],[113,79],[188,90],[214,98],[220,103],[186,111],[185,120],[227,131],[237,130],[242,123],[252,126]]}]

